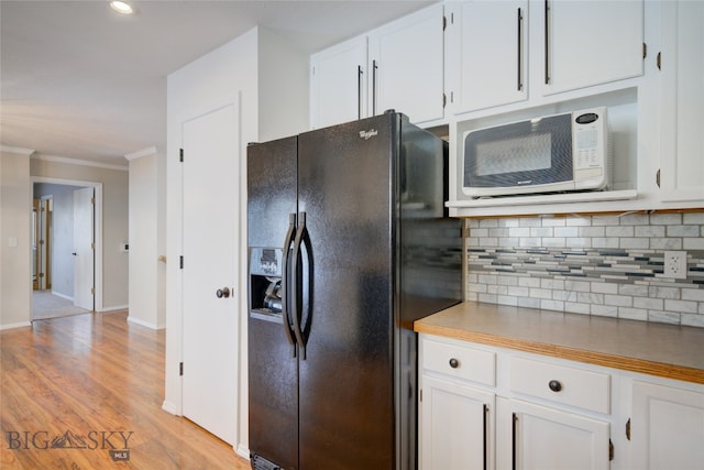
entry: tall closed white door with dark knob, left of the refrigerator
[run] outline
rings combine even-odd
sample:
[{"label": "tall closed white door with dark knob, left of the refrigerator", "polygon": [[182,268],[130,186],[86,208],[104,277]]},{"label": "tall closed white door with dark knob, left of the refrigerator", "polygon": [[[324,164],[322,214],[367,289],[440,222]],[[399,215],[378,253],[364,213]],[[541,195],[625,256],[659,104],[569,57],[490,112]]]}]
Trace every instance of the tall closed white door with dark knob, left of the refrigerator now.
[{"label": "tall closed white door with dark knob, left of the refrigerator", "polygon": [[229,444],[238,422],[238,109],[183,123],[183,413]]}]

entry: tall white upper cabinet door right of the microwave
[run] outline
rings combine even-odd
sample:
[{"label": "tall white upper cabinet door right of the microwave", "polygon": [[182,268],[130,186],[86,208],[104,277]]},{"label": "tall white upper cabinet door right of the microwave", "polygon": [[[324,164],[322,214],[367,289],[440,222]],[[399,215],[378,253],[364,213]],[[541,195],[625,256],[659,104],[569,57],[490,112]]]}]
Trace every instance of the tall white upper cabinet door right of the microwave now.
[{"label": "tall white upper cabinet door right of the microwave", "polygon": [[704,2],[662,2],[660,188],[704,200]]}]

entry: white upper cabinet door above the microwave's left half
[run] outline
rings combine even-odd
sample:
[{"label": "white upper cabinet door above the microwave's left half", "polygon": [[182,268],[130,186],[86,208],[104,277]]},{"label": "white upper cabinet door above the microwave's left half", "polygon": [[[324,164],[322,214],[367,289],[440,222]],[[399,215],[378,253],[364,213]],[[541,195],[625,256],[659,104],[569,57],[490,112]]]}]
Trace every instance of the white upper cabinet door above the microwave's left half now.
[{"label": "white upper cabinet door above the microwave's left half", "polygon": [[468,111],[528,97],[528,0],[448,3],[449,108]]}]

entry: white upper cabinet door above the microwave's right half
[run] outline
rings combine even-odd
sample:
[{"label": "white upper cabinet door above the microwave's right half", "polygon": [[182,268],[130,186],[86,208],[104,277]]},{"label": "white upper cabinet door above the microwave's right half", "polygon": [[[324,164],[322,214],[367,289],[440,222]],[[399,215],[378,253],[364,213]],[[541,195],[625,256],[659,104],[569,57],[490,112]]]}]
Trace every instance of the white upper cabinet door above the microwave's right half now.
[{"label": "white upper cabinet door above the microwave's right half", "polygon": [[641,0],[541,3],[543,95],[642,75]]}]

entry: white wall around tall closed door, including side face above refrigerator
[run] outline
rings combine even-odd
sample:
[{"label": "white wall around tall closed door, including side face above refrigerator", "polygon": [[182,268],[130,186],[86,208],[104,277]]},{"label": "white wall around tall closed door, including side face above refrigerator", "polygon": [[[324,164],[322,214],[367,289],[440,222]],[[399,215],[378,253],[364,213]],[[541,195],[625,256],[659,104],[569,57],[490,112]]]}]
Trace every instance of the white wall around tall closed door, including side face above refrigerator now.
[{"label": "white wall around tall closed door, including side face above refrigerator", "polygon": [[[295,134],[308,129],[308,56],[292,50],[276,34],[254,29],[168,76],[166,152],[166,373],[164,409],[182,414],[178,363],[183,359],[183,291],[178,260],[182,254],[182,175],[178,150],[180,124],[219,105],[240,101],[240,266],[246,292],[246,144]],[[211,188],[204,188],[210,190]],[[208,230],[208,228],[204,228]],[[237,450],[246,457],[248,369],[246,295],[240,295],[239,425]]]}]

